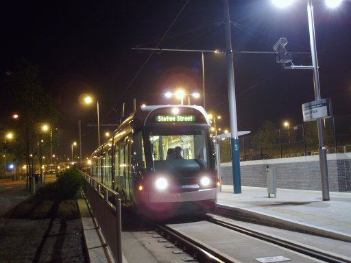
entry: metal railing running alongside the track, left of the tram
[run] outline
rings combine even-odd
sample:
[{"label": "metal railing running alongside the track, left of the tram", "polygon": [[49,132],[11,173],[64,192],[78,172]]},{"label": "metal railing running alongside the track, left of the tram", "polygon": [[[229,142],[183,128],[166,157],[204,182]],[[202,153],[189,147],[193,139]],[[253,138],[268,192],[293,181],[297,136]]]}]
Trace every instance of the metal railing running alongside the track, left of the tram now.
[{"label": "metal railing running alongside the track, left of the tram", "polygon": [[[101,184],[97,179],[83,173],[85,179],[85,194],[99,224],[106,245],[110,247],[112,255],[118,263],[122,262],[122,223],[121,198],[118,192]],[[112,202],[114,204],[112,204]]]}]

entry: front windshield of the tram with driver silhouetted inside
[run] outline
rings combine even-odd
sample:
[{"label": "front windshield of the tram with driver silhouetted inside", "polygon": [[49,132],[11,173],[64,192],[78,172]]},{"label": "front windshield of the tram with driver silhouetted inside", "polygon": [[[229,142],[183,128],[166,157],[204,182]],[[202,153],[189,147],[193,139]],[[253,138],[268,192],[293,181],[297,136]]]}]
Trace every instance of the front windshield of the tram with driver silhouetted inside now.
[{"label": "front windshield of the tram with driver silhouetted inside", "polygon": [[171,166],[176,170],[198,171],[209,166],[208,140],[204,130],[151,132],[149,140],[155,170]]}]

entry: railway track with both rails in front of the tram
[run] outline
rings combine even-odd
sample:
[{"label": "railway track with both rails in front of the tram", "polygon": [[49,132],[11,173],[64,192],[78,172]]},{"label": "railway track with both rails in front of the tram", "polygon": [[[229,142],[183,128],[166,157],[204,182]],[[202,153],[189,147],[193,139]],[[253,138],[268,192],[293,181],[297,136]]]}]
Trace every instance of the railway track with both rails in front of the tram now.
[{"label": "railway track with both rails in front of the tram", "polygon": [[[247,255],[250,255],[250,253],[252,253],[250,261],[243,260],[242,255],[238,255],[237,257],[235,253],[229,254],[222,249],[216,249],[215,245],[211,243],[213,241],[209,241],[210,239],[199,238],[201,234],[199,234],[199,236],[193,235],[193,233],[195,233],[195,228],[197,228],[197,231],[199,233],[203,233],[204,231],[211,231],[210,229],[214,229],[212,231],[214,231],[215,233],[216,227],[221,227],[221,231],[230,231],[230,234],[232,234],[232,236],[234,236],[233,233],[238,234],[239,236],[236,236],[235,238],[233,238],[233,240],[236,240],[236,242],[239,244],[241,242],[252,242],[251,249],[255,247],[254,242],[252,240],[255,240],[255,242],[261,242],[262,247],[265,247],[268,244],[274,247],[274,249],[280,249],[283,255],[289,255],[289,257],[280,257],[283,259],[291,259],[295,262],[322,261],[332,263],[351,263],[350,258],[343,257],[342,255],[328,253],[327,251],[322,251],[321,249],[315,249],[306,245],[299,245],[289,240],[276,238],[267,234],[262,234],[261,232],[254,231],[252,229],[248,229],[239,225],[234,225],[233,223],[228,223],[226,221],[221,221],[216,218],[206,218],[206,221],[202,221],[201,225],[199,225],[198,223],[195,223],[195,225],[193,226],[185,226],[186,224],[181,225],[182,227],[177,227],[176,225],[156,225],[156,231],[160,235],[160,237],[162,236],[162,238],[172,243],[172,245],[166,245],[167,247],[178,248],[178,250],[173,251],[173,253],[187,253],[190,255],[189,258],[183,259],[185,262],[259,262],[259,260],[261,260],[261,258],[253,258],[255,254],[253,251],[250,250],[246,251]],[[218,235],[220,235],[219,231],[217,231],[217,233]],[[221,238],[221,236],[218,236],[218,238]],[[238,238],[242,238],[242,240],[238,240]],[[223,242],[223,240],[221,240],[221,242]],[[250,248],[250,243],[248,247]],[[256,251],[256,249],[254,250]],[[267,251],[269,251],[269,249],[267,249]],[[289,251],[289,253],[287,253],[286,251]],[[291,255],[293,255],[293,257],[291,257]]]}]

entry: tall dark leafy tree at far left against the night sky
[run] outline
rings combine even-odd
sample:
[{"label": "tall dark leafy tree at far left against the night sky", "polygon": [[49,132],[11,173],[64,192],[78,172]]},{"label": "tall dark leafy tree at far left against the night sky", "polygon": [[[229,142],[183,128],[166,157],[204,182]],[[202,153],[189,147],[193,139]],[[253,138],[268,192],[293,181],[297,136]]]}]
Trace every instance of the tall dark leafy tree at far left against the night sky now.
[{"label": "tall dark leafy tree at far left against the night sky", "polygon": [[8,81],[12,110],[20,116],[16,127],[16,158],[19,161],[25,160],[27,171],[33,173],[34,158],[38,157],[36,146],[41,139],[41,125],[50,123],[51,127],[57,127],[57,103],[43,89],[38,66],[25,59],[16,63]]}]

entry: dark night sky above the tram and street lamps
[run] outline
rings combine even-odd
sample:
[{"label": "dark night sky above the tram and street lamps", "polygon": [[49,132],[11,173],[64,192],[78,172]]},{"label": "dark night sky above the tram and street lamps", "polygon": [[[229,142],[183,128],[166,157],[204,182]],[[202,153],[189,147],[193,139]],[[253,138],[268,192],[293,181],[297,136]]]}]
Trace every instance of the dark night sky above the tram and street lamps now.
[{"label": "dark night sky above the tram and street lamps", "polygon": [[[351,116],[351,2],[329,10],[314,1],[314,14],[322,98],[332,99],[334,116]],[[285,37],[287,51],[296,52],[293,63],[311,65],[306,1],[282,10],[269,0],[230,0],[230,18],[234,52],[271,52]],[[101,123],[114,125],[123,103],[125,115],[132,112],[133,99],[137,105],[178,103],[165,92],[179,86],[202,92],[201,53],[133,47],[226,49],[219,0],[6,1],[1,20],[1,84],[19,58],[40,66],[43,87],[60,101],[54,152],[66,155],[78,140],[78,121],[84,157],[97,146],[97,127],[88,126],[97,123],[97,110],[79,103],[84,93],[99,100]],[[315,100],[313,72],[283,70],[275,57],[234,53],[239,131],[255,132],[266,120],[300,124],[302,103]],[[218,126],[229,128],[225,55],[204,53],[204,68],[206,110],[223,116]],[[3,128],[8,103],[1,97]],[[203,98],[193,103],[203,105]],[[101,134],[112,127],[102,126]]]}]

